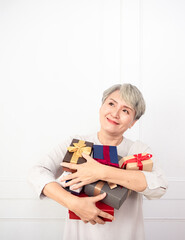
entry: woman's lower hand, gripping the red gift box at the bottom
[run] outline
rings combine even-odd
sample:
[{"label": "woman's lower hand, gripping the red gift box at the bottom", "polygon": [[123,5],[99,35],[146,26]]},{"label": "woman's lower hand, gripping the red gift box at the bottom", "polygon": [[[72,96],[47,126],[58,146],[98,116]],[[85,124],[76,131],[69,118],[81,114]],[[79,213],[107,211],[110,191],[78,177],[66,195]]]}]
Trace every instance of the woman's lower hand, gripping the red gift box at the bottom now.
[{"label": "woman's lower hand, gripping the red gift box at the bottom", "polygon": [[109,213],[103,212],[96,207],[95,203],[105,198],[106,193],[97,195],[95,197],[82,197],[75,201],[71,210],[78,215],[84,223],[90,222],[91,224],[105,224],[103,218],[114,220],[114,217]]}]

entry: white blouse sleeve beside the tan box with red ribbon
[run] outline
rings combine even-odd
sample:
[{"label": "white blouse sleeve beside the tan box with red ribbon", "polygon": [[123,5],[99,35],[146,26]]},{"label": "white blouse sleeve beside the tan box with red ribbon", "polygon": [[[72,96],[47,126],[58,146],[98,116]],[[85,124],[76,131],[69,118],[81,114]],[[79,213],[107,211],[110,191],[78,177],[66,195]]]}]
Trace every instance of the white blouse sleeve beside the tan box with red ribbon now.
[{"label": "white blouse sleeve beside the tan box with red ribbon", "polygon": [[135,148],[134,154],[147,152],[153,155],[152,172],[142,171],[146,178],[147,188],[140,193],[143,194],[147,199],[158,199],[166,193],[166,190],[168,188],[167,179],[165,177],[163,170],[159,166],[157,158],[152,153],[152,150],[146,145],[141,144],[140,142],[139,143],[137,142],[137,145],[138,146]]}]

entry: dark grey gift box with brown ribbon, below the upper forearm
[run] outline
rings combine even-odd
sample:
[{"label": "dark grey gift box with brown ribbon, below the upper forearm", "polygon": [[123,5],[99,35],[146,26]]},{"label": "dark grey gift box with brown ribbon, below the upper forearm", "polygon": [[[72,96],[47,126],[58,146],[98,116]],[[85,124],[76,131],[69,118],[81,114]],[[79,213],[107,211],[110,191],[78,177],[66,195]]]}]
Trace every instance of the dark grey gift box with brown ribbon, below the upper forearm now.
[{"label": "dark grey gift box with brown ribbon, below the upper forearm", "polygon": [[115,209],[119,209],[126,200],[129,190],[119,185],[114,189],[110,189],[107,182],[97,181],[84,186],[84,192],[88,196],[95,196],[106,192],[106,197],[101,201]]}]

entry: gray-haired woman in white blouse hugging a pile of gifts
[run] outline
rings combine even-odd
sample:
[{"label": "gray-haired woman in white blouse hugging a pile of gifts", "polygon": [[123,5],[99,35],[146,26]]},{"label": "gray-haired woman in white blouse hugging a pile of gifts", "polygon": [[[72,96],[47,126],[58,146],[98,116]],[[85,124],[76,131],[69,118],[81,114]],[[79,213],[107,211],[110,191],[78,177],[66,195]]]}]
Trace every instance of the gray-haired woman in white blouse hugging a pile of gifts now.
[{"label": "gray-haired woman in white blouse hugging a pile of gifts", "polygon": [[[99,132],[88,136],[75,136],[75,138],[94,144],[117,146],[118,155],[122,157],[142,152],[152,153],[144,143],[133,142],[123,136],[144,112],[145,102],[137,87],[131,84],[114,85],[103,94],[99,111]],[[72,210],[81,218],[82,221],[66,219],[63,239],[143,240],[142,197],[144,195],[148,199],[157,199],[167,189],[167,182],[155,157],[153,156],[152,172],[113,168],[100,164],[85,154],[83,157],[87,162],[84,164],[62,163],[62,166],[77,170],[62,179],[62,181],[69,180],[66,186],[74,185],[73,189],[97,180],[104,180],[133,190],[120,209],[115,210],[114,218],[95,205],[97,201],[106,196],[105,193],[95,197],[79,198],[57,183],[56,173],[71,140],[72,138],[68,139],[53,150],[32,169],[29,176],[30,182],[35,186],[41,198],[47,196]],[[105,224],[101,217],[113,221]]]}]

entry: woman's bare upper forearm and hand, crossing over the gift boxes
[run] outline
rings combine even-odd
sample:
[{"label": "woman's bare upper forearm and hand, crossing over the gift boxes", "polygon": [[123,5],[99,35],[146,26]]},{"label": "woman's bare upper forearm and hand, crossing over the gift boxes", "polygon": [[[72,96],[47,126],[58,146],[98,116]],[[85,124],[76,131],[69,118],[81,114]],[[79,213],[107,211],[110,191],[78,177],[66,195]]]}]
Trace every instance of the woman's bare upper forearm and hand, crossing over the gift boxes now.
[{"label": "woman's bare upper forearm and hand, crossing over the gift boxes", "polygon": [[87,162],[83,164],[62,163],[62,166],[77,170],[76,173],[61,179],[61,181],[72,179],[70,182],[66,183],[66,186],[76,184],[73,189],[77,189],[97,180],[104,180],[119,184],[136,192],[142,192],[147,187],[145,175],[141,171],[128,171],[109,167],[98,163],[88,155],[83,154],[83,157],[87,160]]}]

